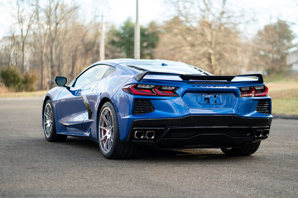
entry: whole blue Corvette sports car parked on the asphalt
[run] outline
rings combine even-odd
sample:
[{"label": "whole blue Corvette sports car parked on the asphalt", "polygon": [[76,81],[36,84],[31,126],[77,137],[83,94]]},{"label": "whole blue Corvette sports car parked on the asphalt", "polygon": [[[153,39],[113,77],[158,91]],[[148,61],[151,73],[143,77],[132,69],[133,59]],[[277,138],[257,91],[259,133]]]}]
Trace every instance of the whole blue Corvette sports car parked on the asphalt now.
[{"label": "whole blue Corvette sports car parked on the asphalt", "polygon": [[261,74],[215,76],[181,62],[114,59],[68,85],[66,77],[55,82],[42,107],[46,140],[86,138],[108,159],[132,158],[140,146],[250,155],[272,121]]}]

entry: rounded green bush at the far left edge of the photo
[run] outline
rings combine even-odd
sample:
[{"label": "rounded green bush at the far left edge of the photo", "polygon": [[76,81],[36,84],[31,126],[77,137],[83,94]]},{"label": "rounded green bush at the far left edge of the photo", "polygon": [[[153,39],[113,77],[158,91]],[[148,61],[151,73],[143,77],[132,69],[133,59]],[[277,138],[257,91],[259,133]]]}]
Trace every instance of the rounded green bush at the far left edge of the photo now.
[{"label": "rounded green bush at the far left edge of the photo", "polygon": [[4,85],[9,89],[17,88],[22,82],[20,72],[13,65],[1,69],[0,76]]}]

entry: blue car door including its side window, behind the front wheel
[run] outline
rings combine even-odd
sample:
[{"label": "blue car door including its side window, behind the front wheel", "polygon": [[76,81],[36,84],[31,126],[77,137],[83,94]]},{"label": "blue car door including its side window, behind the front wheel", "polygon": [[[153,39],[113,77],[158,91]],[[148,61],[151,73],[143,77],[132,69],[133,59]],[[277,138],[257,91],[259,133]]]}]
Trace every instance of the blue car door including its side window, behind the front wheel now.
[{"label": "blue car door including its side window, behind the front wheel", "polygon": [[76,77],[69,89],[64,88],[56,100],[56,111],[59,131],[77,131],[83,133],[82,122],[88,116],[82,99],[82,92],[91,89],[105,72],[108,65],[95,65]]}]

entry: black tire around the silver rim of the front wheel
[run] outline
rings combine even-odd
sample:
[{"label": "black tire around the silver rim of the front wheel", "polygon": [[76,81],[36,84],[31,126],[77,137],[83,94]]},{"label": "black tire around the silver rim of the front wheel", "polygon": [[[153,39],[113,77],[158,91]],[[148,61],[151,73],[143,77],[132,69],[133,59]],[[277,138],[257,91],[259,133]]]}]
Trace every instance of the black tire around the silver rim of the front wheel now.
[{"label": "black tire around the silver rim of the front wheel", "polygon": [[[51,108],[51,112],[49,114],[52,116],[51,117],[52,127],[50,128],[49,131],[47,131],[47,129],[45,127],[45,112],[46,112],[47,107]],[[44,128],[44,137],[46,138],[47,141],[49,141],[49,142],[63,142],[64,140],[66,140],[67,135],[56,134],[55,113],[54,113],[52,101],[50,99],[47,100],[46,104],[44,105],[42,120],[43,120],[43,126],[44,126],[43,127]]]}]

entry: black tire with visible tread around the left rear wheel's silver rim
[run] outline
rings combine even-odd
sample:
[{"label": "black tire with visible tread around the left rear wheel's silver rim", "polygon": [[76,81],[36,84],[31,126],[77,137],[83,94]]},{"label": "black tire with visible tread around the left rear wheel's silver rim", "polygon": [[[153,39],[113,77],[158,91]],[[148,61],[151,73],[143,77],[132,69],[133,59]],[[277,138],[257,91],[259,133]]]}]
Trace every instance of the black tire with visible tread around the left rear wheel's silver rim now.
[{"label": "black tire with visible tread around the left rear wheel's silver rim", "polygon": [[[104,151],[103,145],[101,145],[103,142],[100,142],[100,117],[103,113],[104,109],[111,110],[112,120],[113,120],[113,132],[111,132],[113,138],[113,142],[111,144],[111,148],[109,151]],[[136,156],[136,153],[138,151],[138,148],[136,145],[131,145],[128,143],[124,143],[120,141],[120,134],[119,134],[119,125],[118,125],[118,118],[116,109],[112,102],[106,102],[103,107],[100,110],[100,113],[98,114],[97,119],[97,137],[98,137],[98,143],[100,147],[100,151],[103,154],[103,156],[107,159],[131,159]],[[106,126],[107,127],[107,126]],[[107,133],[107,132],[105,132]],[[105,140],[107,141],[108,138]],[[105,143],[104,143],[105,144]]]}]

